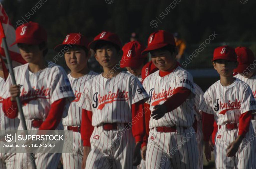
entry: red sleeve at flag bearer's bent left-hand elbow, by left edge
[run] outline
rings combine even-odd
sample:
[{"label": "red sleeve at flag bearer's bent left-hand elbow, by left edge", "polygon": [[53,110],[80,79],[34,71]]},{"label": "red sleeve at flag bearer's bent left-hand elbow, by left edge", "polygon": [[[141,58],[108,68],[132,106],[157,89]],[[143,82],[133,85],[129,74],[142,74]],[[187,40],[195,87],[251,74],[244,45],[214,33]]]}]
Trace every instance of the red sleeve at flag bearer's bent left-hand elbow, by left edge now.
[{"label": "red sleeve at flag bearer's bent left-hand elbow, by left edge", "polygon": [[4,111],[4,115],[10,119],[15,119],[18,116],[18,108],[17,102],[11,101],[11,98],[8,97],[7,99],[3,100],[2,109]]}]

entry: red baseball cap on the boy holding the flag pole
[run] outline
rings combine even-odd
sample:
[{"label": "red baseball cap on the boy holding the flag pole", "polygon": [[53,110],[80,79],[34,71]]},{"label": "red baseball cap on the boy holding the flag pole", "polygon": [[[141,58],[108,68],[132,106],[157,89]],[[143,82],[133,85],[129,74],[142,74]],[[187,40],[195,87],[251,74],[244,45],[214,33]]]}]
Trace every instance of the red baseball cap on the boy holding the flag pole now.
[{"label": "red baseball cap on the boy holding the flag pole", "polygon": [[47,42],[46,30],[36,22],[24,23],[21,28],[16,29],[15,34],[16,41],[11,46],[16,43],[37,45],[41,42]]}]

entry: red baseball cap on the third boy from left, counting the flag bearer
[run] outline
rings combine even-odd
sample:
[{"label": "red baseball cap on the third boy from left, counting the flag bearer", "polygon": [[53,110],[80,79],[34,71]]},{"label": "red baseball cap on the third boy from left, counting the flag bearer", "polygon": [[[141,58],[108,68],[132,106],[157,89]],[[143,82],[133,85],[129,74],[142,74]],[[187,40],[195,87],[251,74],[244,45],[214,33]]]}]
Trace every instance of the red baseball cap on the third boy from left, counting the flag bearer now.
[{"label": "red baseball cap on the third boy from left, counting the flag bearer", "polygon": [[98,41],[107,41],[111,42],[117,46],[122,48],[122,42],[119,39],[118,35],[112,32],[107,32],[107,31],[102,31],[100,34],[94,37],[93,41],[89,43],[89,47],[92,48],[93,50],[95,49],[95,45],[97,44]]}]

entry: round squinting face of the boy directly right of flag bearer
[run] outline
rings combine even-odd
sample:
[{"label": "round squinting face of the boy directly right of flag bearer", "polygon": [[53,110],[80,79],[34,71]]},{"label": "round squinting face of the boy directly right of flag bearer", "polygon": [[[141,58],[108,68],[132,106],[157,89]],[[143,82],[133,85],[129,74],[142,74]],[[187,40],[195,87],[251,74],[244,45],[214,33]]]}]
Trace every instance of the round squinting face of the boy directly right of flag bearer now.
[{"label": "round squinting face of the boy directly right of flag bearer", "polygon": [[88,55],[86,55],[82,48],[71,48],[64,54],[66,64],[71,72],[80,72],[86,68],[88,56],[91,56],[91,51],[88,51]]}]

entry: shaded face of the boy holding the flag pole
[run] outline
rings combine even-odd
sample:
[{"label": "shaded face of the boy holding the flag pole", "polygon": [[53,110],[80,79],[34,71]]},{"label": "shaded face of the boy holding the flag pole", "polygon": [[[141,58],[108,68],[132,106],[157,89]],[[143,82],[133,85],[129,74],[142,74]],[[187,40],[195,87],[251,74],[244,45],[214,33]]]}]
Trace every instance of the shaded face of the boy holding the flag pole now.
[{"label": "shaded face of the boy holding the flag pole", "polygon": [[45,49],[39,49],[38,45],[18,44],[19,51],[23,59],[28,63],[38,63],[41,60],[42,52]]}]

